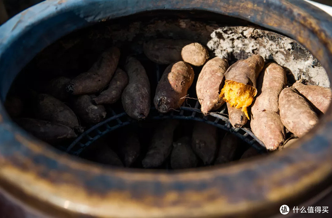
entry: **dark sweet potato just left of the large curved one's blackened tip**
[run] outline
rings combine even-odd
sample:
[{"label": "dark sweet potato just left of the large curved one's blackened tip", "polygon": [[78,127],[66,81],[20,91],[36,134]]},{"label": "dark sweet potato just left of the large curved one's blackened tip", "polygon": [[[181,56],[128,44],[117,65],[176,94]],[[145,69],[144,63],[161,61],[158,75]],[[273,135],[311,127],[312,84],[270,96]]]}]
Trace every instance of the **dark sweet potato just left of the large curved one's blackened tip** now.
[{"label": "dark sweet potato just left of the large curved one's blackened tip", "polygon": [[45,92],[61,101],[65,101],[69,97],[69,93],[66,91],[66,86],[69,84],[69,82],[70,78],[64,76],[54,78],[47,83]]}]

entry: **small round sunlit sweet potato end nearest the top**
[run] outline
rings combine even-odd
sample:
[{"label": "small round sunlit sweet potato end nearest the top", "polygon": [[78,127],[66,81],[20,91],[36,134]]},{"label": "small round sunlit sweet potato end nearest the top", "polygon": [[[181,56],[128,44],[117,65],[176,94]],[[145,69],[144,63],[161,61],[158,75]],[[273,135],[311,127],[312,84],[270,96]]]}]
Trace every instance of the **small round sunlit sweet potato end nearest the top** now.
[{"label": "small round sunlit sweet potato end nearest the top", "polygon": [[200,43],[191,43],[181,50],[182,59],[194,66],[202,66],[208,60],[207,48]]}]

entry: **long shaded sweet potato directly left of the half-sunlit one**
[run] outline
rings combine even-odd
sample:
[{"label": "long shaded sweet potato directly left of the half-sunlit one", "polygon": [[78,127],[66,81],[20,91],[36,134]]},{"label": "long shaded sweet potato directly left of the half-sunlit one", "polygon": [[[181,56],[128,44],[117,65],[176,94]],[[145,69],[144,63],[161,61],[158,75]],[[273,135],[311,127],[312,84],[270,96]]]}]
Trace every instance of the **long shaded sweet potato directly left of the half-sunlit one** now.
[{"label": "long shaded sweet potato directly left of the half-sunlit one", "polygon": [[125,71],[129,82],[122,93],[124,111],[134,119],[145,119],[150,111],[150,82],[142,64],[133,57],[127,58]]}]

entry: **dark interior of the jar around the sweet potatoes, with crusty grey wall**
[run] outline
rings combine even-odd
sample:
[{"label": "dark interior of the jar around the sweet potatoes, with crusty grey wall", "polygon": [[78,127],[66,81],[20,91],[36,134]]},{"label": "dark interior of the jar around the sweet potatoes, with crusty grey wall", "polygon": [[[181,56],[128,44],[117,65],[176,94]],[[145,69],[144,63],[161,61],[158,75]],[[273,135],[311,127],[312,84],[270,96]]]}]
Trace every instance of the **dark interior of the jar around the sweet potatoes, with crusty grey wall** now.
[{"label": "dark interior of the jar around the sweet potatoes, with crusty grey wall", "polygon": [[[61,38],[41,51],[22,70],[12,84],[8,96],[19,95],[24,99],[25,107],[19,116],[33,118],[34,109],[30,96],[32,92],[43,93],[45,84],[54,77],[66,76],[72,78],[81,72],[87,71],[106,48],[116,46],[121,51],[118,65],[120,68],[124,68],[125,59],[129,55],[141,61],[149,77],[152,101],[157,82],[167,66],[150,61],[143,54],[142,45],[144,42],[156,38],[188,39],[199,42],[208,48],[210,57],[227,58],[229,65],[252,54],[260,54],[266,62],[277,62],[286,69],[288,85],[300,80],[304,84],[329,87],[328,77],[319,62],[305,48],[288,37],[240,19],[216,14],[199,11],[190,13],[156,11],[117,20],[101,21]],[[179,109],[169,112],[165,117],[160,117],[161,115],[151,110],[151,115],[146,120],[134,121],[126,116],[119,116],[124,112],[121,100],[119,100],[114,104],[105,105],[108,122],[103,125],[92,126],[81,121],[80,124],[85,127],[85,131],[91,130],[89,134],[83,133],[85,134],[84,137],[76,140],[74,144],[73,140],[68,140],[52,146],[94,162],[119,166],[119,164],[112,161],[105,161],[107,157],[101,156],[107,156],[107,154],[100,147],[113,150],[122,160],[121,148],[124,140],[128,133],[134,132],[139,139],[141,148],[137,160],[130,167],[141,168],[141,162],[150,144],[151,136],[158,125],[163,125],[163,120],[180,120],[174,131],[174,142],[184,136],[191,138],[195,125],[202,125],[206,121],[211,125],[213,123],[218,124],[220,118],[215,116],[205,118],[199,111],[190,110],[190,108],[200,108],[200,105],[197,105],[195,87],[202,67],[193,67],[193,69],[195,80],[188,91],[188,98],[182,105],[185,110]],[[70,102],[64,103],[70,105]],[[9,113],[11,112],[9,111]],[[211,114],[220,114],[227,117],[227,110],[225,107],[221,107],[212,111]],[[15,120],[15,116],[13,116],[13,119]],[[250,124],[247,123],[245,127],[250,128]],[[227,131],[218,128],[218,126],[215,128],[217,131],[217,151],[215,155],[217,155],[218,148],[222,144],[221,140]],[[108,131],[105,131],[105,129],[108,129]],[[237,129],[235,133],[239,131],[241,130]],[[234,133],[234,129],[230,132]],[[241,134],[246,136],[245,132],[238,133],[237,136]],[[290,137],[290,134],[287,135],[287,138]],[[254,138],[247,141],[245,137],[241,139],[232,161],[244,159],[243,154],[254,144],[250,144],[250,140],[255,141]],[[259,143],[255,142],[255,145],[256,150],[260,147],[258,152],[252,152],[248,156],[266,153],[264,147]],[[243,157],[241,158],[241,156]],[[201,160],[198,161],[197,166],[204,165],[206,164]],[[170,156],[162,165],[156,168],[171,169]]]}]

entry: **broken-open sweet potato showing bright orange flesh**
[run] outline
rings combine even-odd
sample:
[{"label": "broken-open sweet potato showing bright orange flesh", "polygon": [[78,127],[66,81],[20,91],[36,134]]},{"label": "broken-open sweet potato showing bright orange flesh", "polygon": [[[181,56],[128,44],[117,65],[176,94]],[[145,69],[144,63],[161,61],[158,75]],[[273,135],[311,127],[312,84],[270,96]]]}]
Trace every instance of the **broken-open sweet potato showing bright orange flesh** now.
[{"label": "broken-open sweet potato showing bright orange flesh", "polygon": [[[256,80],[263,67],[263,57],[253,55],[245,60],[235,62],[225,72],[225,85],[221,89],[220,97],[229,103],[229,106],[236,109],[241,108],[248,119],[247,107],[251,105],[257,94]],[[240,113],[237,114],[240,115]],[[239,120],[240,117],[236,122],[238,125]],[[234,124],[232,123],[233,126]]]}]

